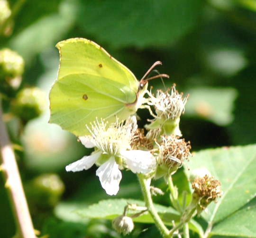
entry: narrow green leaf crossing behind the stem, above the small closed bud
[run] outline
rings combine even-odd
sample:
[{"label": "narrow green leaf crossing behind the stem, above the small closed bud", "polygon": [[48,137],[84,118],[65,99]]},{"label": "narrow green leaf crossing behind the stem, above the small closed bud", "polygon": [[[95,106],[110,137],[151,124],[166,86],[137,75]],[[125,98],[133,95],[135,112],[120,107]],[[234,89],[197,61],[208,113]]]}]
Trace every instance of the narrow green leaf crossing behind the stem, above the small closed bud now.
[{"label": "narrow green leaf crossing behind the stem, above the small closed bud", "polygon": [[[85,209],[77,210],[77,213],[83,218],[103,218],[112,220],[124,212],[124,207],[128,203],[145,206],[143,201],[134,199],[107,199],[100,201],[98,204],[92,204]],[[171,207],[155,204],[155,208],[159,212],[159,215],[162,217],[163,221],[169,225],[172,224],[172,220],[177,221],[179,219],[178,213]],[[136,212],[130,212],[129,214],[134,213]],[[148,212],[134,218],[133,220],[136,222],[154,223]]]}]

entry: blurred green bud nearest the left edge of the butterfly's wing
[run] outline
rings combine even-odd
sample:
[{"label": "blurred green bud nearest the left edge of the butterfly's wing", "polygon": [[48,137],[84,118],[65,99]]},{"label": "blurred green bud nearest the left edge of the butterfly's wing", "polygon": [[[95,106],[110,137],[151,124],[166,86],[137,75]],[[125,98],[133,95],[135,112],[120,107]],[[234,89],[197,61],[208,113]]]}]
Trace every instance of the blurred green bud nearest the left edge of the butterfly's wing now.
[{"label": "blurred green bud nearest the left edge of the butterfly's wing", "polygon": [[23,88],[12,102],[11,111],[24,122],[42,114],[46,107],[46,97],[39,88]]}]

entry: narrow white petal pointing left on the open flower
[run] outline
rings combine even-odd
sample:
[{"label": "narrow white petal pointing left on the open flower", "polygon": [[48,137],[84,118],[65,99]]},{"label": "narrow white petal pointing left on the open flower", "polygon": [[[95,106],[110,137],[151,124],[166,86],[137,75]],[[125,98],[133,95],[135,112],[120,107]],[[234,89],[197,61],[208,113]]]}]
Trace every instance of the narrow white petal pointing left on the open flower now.
[{"label": "narrow white petal pointing left on the open flower", "polygon": [[97,153],[93,153],[89,156],[83,156],[82,159],[67,165],[66,170],[73,171],[73,172],[88,170],[97,161],[100,155],[101,155],[101,151]]}]

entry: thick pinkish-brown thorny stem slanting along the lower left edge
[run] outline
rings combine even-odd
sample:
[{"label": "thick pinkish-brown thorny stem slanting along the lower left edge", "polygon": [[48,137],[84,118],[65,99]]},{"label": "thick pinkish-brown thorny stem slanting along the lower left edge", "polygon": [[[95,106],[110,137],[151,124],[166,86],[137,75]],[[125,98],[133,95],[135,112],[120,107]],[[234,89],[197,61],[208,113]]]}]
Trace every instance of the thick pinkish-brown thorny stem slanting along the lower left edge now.
[{"label": "thick pinkish-brown thorny stem slanting along the lower left edge", "polygon": [[9,136],[2,120],[0,101],[0,159],[1,169],[5,179],[5,187],[9,193],[12,210],[17,224],[17,235],[20,238],[36,238],[27,200],[23,191],[15,155],[9,141]]}]

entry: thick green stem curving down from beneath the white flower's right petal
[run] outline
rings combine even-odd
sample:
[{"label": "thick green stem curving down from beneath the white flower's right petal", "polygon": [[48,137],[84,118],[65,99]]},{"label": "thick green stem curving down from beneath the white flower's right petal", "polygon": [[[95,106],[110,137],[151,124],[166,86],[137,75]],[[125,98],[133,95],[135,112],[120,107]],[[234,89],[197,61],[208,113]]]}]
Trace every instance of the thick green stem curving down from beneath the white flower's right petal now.
[{"label": "thick green stem curving down from beneath the white flower's right petal", "polygon": [[139,179],[140,187],[141,187],[149,214],[155,221],[155,225],[159,229],[162,236],[164,238],[169,238],[170,237],[169,230],[165,227],[164,222],[161,220],[160,216],[155,210],[155,206],[153,204],[152,197],[150,194],[150,184],[147,184],[148,179],[144,178],[142,174],[138,174],[137,176]]}]

